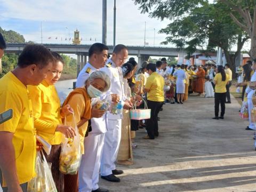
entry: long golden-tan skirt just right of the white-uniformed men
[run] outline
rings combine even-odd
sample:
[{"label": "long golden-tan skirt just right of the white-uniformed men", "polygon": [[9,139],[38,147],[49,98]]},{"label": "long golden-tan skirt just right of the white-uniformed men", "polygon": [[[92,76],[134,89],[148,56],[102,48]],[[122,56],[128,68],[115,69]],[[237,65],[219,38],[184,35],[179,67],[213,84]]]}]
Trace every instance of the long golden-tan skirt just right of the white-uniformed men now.
[{"label": "long golden-tan skirt just right of the white-uniformed men", "polygon": [[130,110],[123,110],[122,119],[122,136],[121,143],[118,150],[117,160],[126,161],[132,160],[132,141],[131,141],[131,119]]}]

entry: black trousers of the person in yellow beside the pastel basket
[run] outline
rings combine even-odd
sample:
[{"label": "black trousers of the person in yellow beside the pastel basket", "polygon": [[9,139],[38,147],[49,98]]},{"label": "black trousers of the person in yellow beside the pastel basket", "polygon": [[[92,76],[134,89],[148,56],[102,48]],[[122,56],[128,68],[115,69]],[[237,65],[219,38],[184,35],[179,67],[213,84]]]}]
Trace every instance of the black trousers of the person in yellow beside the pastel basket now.
[{"label": "black trousers of the person in yellow beside the pastel basket", "polygon": [[150,119],[147,119],[146,130],[150,139],[155,139],[155,136],[158,136],[158,113],[163,106],[163,102],[158,101],[149,101],[148,108],[151,109]]}]

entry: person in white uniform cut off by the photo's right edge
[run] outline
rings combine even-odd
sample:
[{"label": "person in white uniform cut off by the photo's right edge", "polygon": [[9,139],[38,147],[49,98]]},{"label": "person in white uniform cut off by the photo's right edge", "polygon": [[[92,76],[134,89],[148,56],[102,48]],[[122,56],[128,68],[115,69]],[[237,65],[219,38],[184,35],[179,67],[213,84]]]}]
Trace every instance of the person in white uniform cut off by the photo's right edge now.
[{"label": "person in white uniform cut off by the photo's right edge", "polygon": [[[252,63],[252,70],[254,71],[254,74],[251,77],[251,82],[256,81],[256,62],[253,61]],[[252,88],[252,89],[251,89]],[[256,130],[256,125],[255,123],[251,122],[251,110],[253,108],[253,103],[252,103],[252,98],[255,93],[256,87],[247,87],[245,92],[247,93],[247,103],[248,103],[248,113],[249,113],[249,126],[246,127],[246,130]]]}]

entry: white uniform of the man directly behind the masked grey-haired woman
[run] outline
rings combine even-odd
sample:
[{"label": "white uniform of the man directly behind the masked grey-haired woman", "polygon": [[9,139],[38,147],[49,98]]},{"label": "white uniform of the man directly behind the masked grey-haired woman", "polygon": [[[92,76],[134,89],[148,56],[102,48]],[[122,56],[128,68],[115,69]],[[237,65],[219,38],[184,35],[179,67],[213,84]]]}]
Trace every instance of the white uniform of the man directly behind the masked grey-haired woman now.
[{"label": "white uniform of the man directly behind the masked grey-haired woman", "polygon": [[[89,62],[78,75],[76,86],[84,86],[84,82],[90,74],[99,69],[94,68]],[[92,106],[99,98],[92,100]],[[79,167],[79,191],[91,192],[99,188],[100,159],[104,144],[105,133],[107,132],[106,114],[100,118],[91,118],[92,131],[84,139],[84,155]]]}]

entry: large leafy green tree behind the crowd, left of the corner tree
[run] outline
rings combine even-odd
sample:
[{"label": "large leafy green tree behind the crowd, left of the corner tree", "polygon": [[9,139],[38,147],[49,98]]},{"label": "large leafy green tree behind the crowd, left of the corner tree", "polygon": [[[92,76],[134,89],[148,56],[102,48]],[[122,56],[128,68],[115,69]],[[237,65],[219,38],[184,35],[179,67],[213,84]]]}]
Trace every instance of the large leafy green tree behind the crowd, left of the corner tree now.
[{"label": "large leafy green tree behind the crowd, left of the corner tree", "polygon": [[[141,4],[142,13],[149,12],[154,7],[154,10],[149,12],[150,17],[171,19],[171,23],[159,31],[170,35],[164,44],[174,43],[180,49],[185,49],[188,58],[198,48],[205,50],[207,54],[214,51],[216,46],[220,46],[231,68],[235,69],[235,58],[249,37],[231,20],[227,7],[222,3],[211,4],[195,0],[134,2]],[[235,43],[237,51],[233,53],[230,48]]]}]

